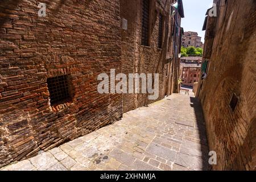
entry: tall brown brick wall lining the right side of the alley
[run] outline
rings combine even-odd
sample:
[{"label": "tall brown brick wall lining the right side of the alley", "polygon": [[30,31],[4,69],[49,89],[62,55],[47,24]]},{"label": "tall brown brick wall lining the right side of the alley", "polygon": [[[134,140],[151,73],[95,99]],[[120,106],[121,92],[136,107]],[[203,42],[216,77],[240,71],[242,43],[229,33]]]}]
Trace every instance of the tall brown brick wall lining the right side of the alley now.
[{"label": "tall brown brick wall lining the right side of the alley", "polygon": [[[208,77],[201,99],[213,169],[256,169],[256,2],[220,1]],[[229,106],[238,96],[236,109]]]}]

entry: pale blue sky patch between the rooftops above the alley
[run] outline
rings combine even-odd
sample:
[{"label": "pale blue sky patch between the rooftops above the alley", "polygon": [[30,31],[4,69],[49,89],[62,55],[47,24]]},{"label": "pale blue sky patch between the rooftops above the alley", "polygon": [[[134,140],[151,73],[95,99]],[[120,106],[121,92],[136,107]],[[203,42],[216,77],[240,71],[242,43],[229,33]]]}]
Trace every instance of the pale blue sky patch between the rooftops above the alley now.
[{"label": "pale blue sky patch between the rooftops above the alley", "polygon": [[184,31],[195,31],[204,42],[205,31],[202,31],[206,11],[213,0],[183,0],[185,18],[181,20]]}]

